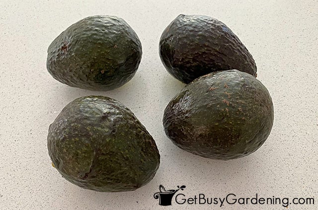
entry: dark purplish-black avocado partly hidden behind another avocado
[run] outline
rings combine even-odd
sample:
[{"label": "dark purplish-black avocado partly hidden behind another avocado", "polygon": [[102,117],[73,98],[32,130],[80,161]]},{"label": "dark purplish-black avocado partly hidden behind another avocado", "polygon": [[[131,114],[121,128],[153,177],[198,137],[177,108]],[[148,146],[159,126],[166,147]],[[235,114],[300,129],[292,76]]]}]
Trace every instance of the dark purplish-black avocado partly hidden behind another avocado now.
[{"label": "dark purplish-black avocado partly hidden behind another avocado", "polygon": [[256,77],[255,61],[239,38],[223,22],[208,16],[177,16],[162,32],[159,55],[166,70],[186,84],[231,69]]}]

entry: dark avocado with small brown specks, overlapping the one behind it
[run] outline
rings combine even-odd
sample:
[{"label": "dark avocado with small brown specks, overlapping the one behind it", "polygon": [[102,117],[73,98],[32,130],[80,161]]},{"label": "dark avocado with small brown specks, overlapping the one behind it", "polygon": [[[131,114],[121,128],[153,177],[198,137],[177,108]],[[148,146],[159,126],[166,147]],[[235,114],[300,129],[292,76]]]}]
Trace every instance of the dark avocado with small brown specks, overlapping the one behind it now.
[{"label": "dark avocado with small brown specks, overlapping the one behind it", "polygon": [[211,159],[229,160],[256,151],[274,120],[272,99],[253,76],[213,72],[186,85],[166,106],[163,127],[178,147]]}]

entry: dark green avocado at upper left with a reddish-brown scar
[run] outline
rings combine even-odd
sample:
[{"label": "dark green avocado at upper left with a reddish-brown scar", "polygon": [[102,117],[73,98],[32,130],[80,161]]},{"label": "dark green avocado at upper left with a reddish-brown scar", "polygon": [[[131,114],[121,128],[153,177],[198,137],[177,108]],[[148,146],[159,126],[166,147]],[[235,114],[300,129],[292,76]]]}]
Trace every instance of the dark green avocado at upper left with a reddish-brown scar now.
[{"label": "dark green avocado at upper left with a reddish-brown scar", "polygon": [[54,39],[48,48],[47,70],[69,86],[109,91],[133,78],[141,57],[141,42],[125,20],[95,15]]}]

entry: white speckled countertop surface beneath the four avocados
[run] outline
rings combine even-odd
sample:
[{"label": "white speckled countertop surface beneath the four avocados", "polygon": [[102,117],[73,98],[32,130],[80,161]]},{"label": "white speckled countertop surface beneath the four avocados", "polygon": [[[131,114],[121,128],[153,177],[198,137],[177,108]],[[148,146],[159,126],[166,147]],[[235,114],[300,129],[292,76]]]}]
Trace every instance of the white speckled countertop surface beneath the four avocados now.
[{"label": "white speckled countertop surface beneath the four avocados", "polygon": [[[281,205],[177,204],[161,207],[159,185],[185,185],[184,197],[315,198],[318,209],[318,2],[316,0],[0,1],[0,209],[261,209]],[[165,136],[162,113],[184,86],[159,59],[159,37],[178,14],[204,14],[227,24],[253,55],[268,88],[275,121],[255,153],[217,161],[187,153]],[[143,57],[135,77],[110,92],[71,88],[46,70],[47,48],[72,23],[95,14],[124,18],[136,31]],[[161,154],[155,178],[135,192],[98,193],[67,182],[51,166],[48,126],[80,96],[104,95],[127,105],[153,135]],[[233,198],[231,198],[233,199]],[[285,200],[286,201],[286,200]],[[285,202],[284,201],[284,202]],[[191,200],[190,200],[191,203]],[[198,201],[197,201],[198,203]]]}]

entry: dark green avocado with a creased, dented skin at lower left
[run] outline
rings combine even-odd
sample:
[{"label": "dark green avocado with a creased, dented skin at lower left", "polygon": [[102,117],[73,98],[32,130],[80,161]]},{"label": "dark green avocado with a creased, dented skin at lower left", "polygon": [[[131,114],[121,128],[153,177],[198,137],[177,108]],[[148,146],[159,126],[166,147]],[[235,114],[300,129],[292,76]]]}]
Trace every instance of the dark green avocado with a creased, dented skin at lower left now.
[{"label": "dark green avocado with a creased, dented skin at lower left", "polygon": [[66,105],[47,140],[55,168],[85,189],[136,190],[159,168],[153,137],[127,107],[107,97],[81,97]]}]

